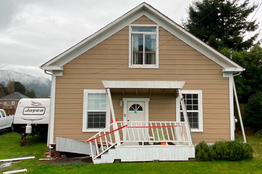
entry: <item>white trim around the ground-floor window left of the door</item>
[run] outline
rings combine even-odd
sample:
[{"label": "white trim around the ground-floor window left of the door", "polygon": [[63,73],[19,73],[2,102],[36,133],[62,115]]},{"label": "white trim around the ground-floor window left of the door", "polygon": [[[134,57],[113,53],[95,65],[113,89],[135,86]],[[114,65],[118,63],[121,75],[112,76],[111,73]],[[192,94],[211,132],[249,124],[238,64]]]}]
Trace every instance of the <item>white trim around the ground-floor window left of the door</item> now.
[{"label": "white trim around the ground-floor window left of the door", "polygon": [[[88,93],[99,93],[99,94],[106,94],[105,90],[94,90],[94,89],[84,89],[84,102],[83,102],[83,127],[82,132],[100,132],[104,128],[90,128],[87,129],[87,94]],[[107,96],[106,101],[106,119],[105,119],[105,127],[110,125],[110,105],[109,105],[109,99]],[[109,128],[106,130],[106,132],[109,132]]]}]

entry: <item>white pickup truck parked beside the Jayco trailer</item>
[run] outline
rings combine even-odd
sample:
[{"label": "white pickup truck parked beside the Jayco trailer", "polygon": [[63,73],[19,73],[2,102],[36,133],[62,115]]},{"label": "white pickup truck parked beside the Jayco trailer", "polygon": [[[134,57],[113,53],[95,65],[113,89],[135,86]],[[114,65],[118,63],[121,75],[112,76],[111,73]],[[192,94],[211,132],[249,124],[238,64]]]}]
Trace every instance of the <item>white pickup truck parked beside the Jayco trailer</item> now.
[{"label": "white pickup truck parked beside the Jayco trailer", "polygon": [[0,131],[9,129],[14,132],[13,128],[14,115],[6,115],[3,109],[0,109]]}]

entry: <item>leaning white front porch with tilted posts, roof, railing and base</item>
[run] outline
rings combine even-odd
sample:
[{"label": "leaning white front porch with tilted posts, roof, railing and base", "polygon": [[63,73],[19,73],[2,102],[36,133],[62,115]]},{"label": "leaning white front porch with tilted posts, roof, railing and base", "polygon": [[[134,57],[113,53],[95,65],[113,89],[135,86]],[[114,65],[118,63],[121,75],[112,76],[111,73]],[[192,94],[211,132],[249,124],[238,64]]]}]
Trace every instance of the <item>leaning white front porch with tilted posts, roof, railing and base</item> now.
[{"label": "leaning white front porch with tilted posts, roof, railing and base", "polygon": [[[135,161],[182,161],[195,157],[186,108],[181,89],[184,81],[102,81],[108,94],[112,123],[87,142],[94,163]],[[163,91],[179,97],[184,122],[148,121],[147,98],[123,98],[123,121],[115,119],[111,90]],[[129,102],[129,103],[128,103]],[[144,107],[144,109],[140,109]],[[147,113],[146,111],[147,110]],[[109,132],[108,132],[109,131]],[[94,146],[95,145],[95,146]],[[95,149],[94,149],[95,147]]]}]

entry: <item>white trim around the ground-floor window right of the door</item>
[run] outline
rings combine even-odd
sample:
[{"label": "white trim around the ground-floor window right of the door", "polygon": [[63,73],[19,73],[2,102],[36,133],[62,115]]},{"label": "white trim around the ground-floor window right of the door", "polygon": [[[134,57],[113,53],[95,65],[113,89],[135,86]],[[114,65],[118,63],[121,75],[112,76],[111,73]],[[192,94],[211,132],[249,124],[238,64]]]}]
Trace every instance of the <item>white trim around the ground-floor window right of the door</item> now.
[{"label": "white trim around the ground-floor window right of the door", "polygon": [[[191,132],[203,132],[203,103],[202,90],[181,90],[182,94],[198,94],[198,129],[191,128]],[[176,98],[176,121],[180,121],[180,100]]]}]

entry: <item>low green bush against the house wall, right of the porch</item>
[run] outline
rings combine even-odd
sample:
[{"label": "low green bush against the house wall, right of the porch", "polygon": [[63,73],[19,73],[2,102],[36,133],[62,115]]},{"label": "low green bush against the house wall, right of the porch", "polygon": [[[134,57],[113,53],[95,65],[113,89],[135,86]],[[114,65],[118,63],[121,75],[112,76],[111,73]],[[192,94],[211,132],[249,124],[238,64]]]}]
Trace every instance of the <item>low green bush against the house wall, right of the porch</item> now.
[{"label": "low green bush against the house wall, right of the porch", "polygon": [[252,146],[235,141],[218,141],[209,146],[204,141],[196,146],[197,161],[211,160],[243,160],[253,158]]}]

